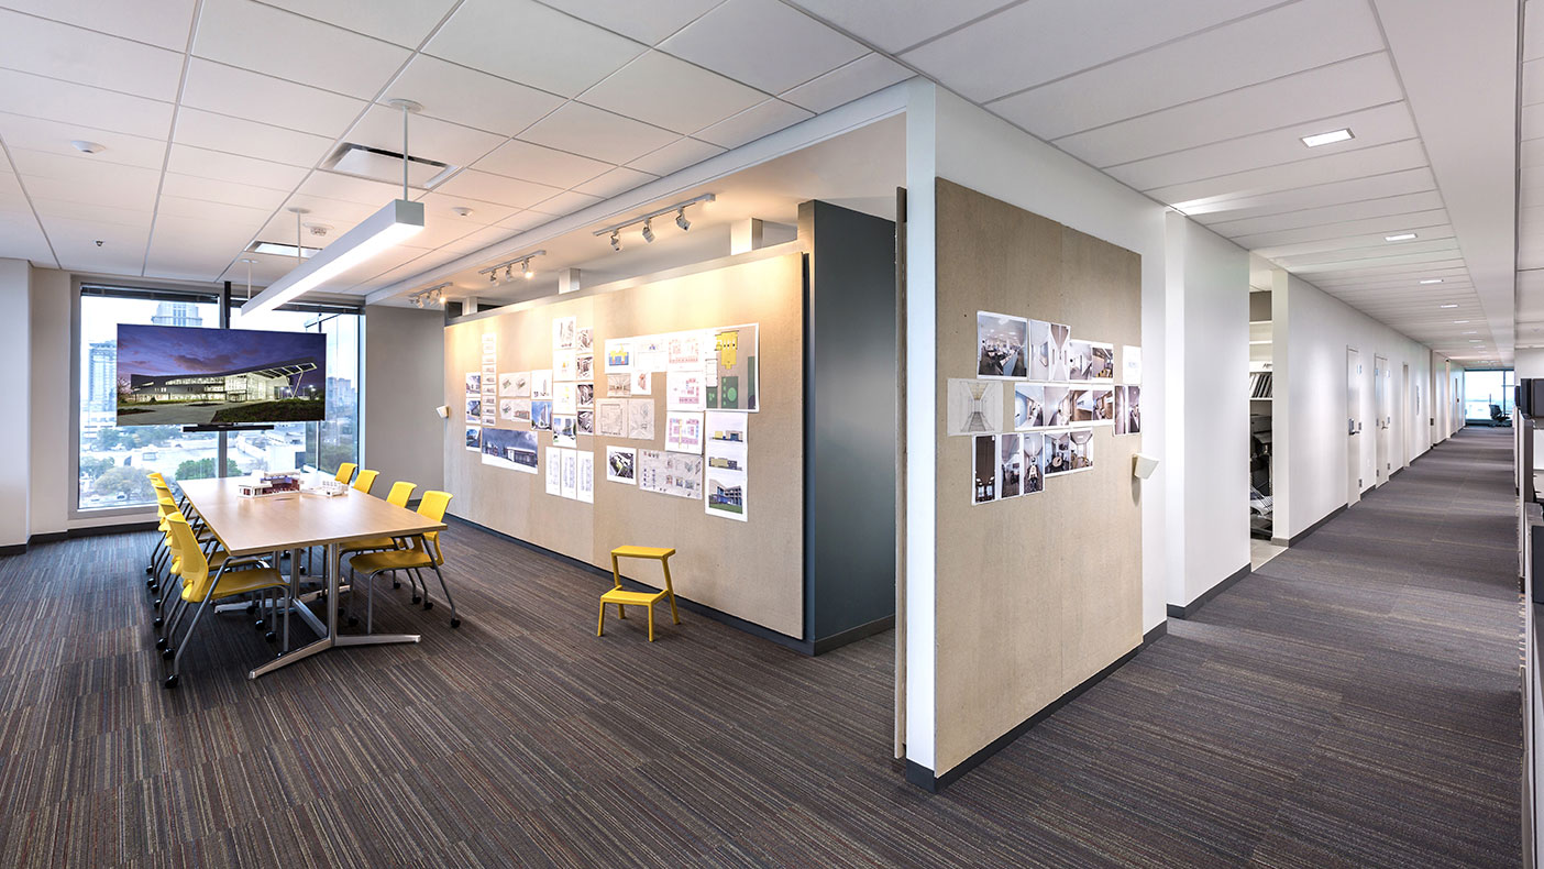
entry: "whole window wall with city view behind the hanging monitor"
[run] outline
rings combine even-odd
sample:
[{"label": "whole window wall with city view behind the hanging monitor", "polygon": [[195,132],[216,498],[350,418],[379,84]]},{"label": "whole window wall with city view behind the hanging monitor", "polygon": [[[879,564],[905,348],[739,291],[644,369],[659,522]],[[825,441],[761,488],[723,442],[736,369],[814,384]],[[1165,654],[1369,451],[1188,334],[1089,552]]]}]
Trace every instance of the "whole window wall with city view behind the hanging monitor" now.
[{"label": "whole window wall with city view behind the hanging monitor", "polygon": [[[239,304],[239,303],[236,303]],[[320,332],[327,336],[327,418],[276,423],[270,431],[184,432],[182,426],[119,426],[117,326],[156,324],[219,327],[213,295],[85,287],[80,295],[80,512],[154,503],[148,471],[174,480],[249,474],[252,471],[334,471],[358,462],[360,332],[354,309],[307,307],[245,318],[232,310],[233,329]],[[222,449],[224,448],[224,449]],[[224,455],[224,469],[219,468]]]}]

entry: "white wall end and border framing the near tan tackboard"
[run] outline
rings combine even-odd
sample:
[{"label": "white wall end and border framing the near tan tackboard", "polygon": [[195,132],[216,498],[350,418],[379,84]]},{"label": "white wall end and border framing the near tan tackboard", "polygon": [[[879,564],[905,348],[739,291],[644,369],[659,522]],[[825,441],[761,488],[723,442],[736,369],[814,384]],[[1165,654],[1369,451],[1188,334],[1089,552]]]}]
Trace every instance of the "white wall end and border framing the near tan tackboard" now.
[{"label": "white wall end and border framing the near tan tackboard", "polygon": [[[908,85],[906,367],[933,372],[934,176],[1133,250],[1143,258],[1143,452],[1166,455],[1164,207],[931,82]],[[1240,295],[1248,286],[1240,287]],[[1241,340],[1243,343],[1243,340]],[[1243,395],[1243,386],[1238,387]],[[933,769],[934,449],[933,377],[906,378],[906,756]],[[1143,630],[1166,619],[1166,480],[1143,483]]]}]

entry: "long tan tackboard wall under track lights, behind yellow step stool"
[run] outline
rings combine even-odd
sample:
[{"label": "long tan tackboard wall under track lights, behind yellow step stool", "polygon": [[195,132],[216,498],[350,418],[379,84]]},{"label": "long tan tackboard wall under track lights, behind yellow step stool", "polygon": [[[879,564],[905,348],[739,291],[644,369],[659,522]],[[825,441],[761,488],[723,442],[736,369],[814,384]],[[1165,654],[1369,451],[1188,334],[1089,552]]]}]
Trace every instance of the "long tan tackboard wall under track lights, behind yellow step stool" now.
[{"label": "long tan tackboard wall under track lights, behind yellow step stool", "polygon": [[[803,639],[803,253],[789,253],[730,264],[577,299],[533,303],[446,327],[445,395],[451,418],[445,478],[455,495],[451,512],[605,570],[611,568],[615,546],[673,546],[676,594]],[[652,391],[652,441],[579,435],[579,449],[596,454],[593,505],[547,494],[551,432],[537,434],[539,474],[485,466],[480,454],[463,448],[463,378],[480,370],[482,335],[497,335],[500,372],[548,369],[551,323],[564,316],[576,316],[581,329],[594,329],[598,398],[605,395],[602,350],[610,338],[760,324],[761,409],[749,415],[747,522],[707,516],[699,499],[605,480],[607,445],[664,449],[664,375],[656,375]],[[497,428],[527,426],[500,421]],[[628,568],[641,582],[661,585],[656,566],[624,563],[624,573]],[[520,576],[511,573],[506,580],[520,582]]]}]

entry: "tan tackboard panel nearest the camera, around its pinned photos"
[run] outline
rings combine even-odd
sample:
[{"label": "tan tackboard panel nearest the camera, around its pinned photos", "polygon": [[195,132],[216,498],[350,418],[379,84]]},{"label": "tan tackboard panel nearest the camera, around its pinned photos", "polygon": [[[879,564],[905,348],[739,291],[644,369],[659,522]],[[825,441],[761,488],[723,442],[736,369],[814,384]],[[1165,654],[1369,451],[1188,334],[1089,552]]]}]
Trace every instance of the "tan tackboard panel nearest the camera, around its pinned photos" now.
[{"label": "tan tackboard panel nearest the camera, around its pinned photos", "polygon": [[[940,397],[974,377],[977,310],[1064,323],[1118,355],[1143,343],[1136,253],[943,179],[936,269]],[[1004,401],[1011,428],[1011,381]],[[1141,644],[1141,435],[1098,426],[1093,469],[979,506],[971,441],[948,435],[940,401],[936,775]]]}]

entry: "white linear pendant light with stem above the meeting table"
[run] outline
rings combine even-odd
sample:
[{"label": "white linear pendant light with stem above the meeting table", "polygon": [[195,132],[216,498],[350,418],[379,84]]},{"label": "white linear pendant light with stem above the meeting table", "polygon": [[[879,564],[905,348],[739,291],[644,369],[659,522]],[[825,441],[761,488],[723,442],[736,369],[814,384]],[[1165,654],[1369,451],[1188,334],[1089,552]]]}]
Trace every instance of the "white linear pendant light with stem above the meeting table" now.
[{"label": "white linear pendant light with stem above the meeting table", "polygon": [[[401,110],[401,199],[392,199],[384,208],[343,233],[338,241],[321,249],[296,265],[255,298],[241,306],[241,313],[252,316],[304,295],[364,262],[388,247],[401,244],[423,232],[423,202],[408,199],[408,114],[423,107],[412,100],[389,100],[388,105]],[[300,242],[296,241],[296,247]]]}]

